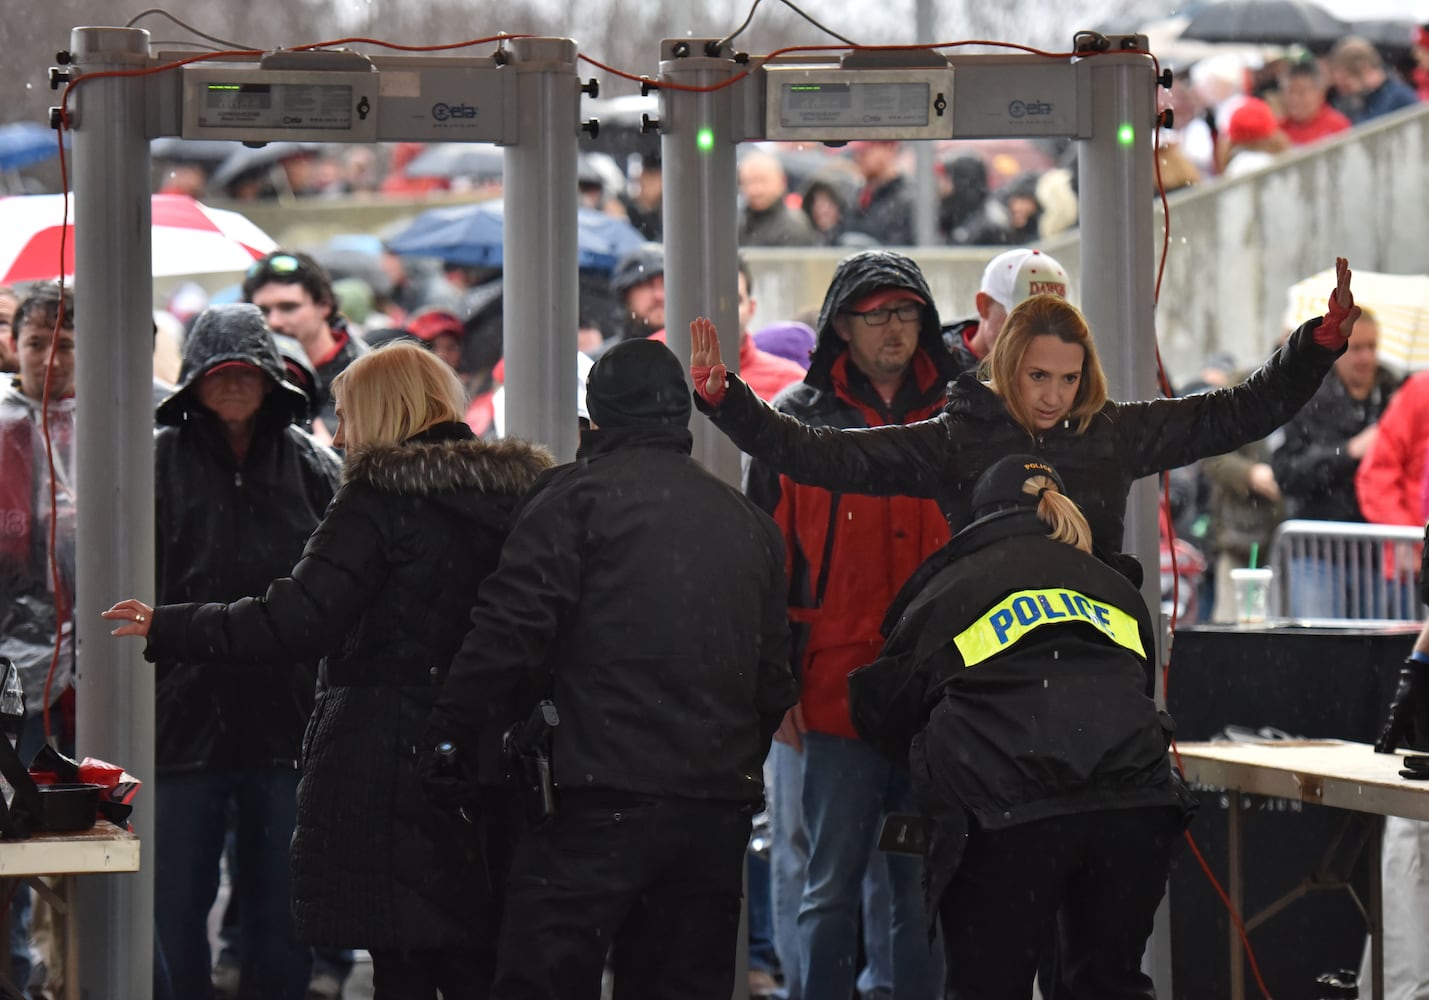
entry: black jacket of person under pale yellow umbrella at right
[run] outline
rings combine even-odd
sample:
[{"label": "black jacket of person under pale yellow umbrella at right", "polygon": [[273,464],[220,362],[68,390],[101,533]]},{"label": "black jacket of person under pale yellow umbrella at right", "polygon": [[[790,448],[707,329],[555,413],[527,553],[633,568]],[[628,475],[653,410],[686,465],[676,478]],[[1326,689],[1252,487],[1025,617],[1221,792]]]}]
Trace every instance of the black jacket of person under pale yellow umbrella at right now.
[{"label": "black jacket of person under pale yellow umbrella at right", "polygon": [[1389,397],[1399,387],[1388,369],[1375,374],[1375,387],[1363,400],[1352,399],[1338,374],[1330,374],[1305,409],[1285,426],[1285,440],[1270,456],[1275,481],[1285,496],[1289,517],[1322,521],[1362,521],[1355,496],[1359,459],[1345,444],[1379,421]]}]

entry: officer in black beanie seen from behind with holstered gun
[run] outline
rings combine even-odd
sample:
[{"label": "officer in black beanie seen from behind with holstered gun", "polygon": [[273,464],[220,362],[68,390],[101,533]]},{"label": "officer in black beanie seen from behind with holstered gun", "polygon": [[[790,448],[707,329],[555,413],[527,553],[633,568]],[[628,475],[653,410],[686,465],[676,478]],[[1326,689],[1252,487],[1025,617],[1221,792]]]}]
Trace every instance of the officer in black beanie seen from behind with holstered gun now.
[{"label": "officer in black beanie seen from behind with holstered gun", "polygon": [[783,540],[690,457],[664,344],[612,347],[586,403],[576,461],[536,486],[482,586],[426,743],[484,770],[527,716],[516,696],[549,683],[554,817],[516,847],[492,997],[596,1000],[613,947],[617,993],[727,1000],[762,766],[797,694]]}]

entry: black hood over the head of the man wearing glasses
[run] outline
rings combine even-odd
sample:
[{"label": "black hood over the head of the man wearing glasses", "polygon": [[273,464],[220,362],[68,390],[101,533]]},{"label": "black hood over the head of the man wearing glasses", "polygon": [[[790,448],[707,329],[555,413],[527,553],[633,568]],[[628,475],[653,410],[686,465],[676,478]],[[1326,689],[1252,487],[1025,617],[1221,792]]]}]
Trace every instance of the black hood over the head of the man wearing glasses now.
[{"label": "black hood over the head of the man wearing glasses", "polygon": [[829,291],[823,297],[823,309],[819,310],[819,341],[813,349],[805,383],[825,391],[833,389],[830,379],[833,363],[849,349],[833,329],[833,317],[849,303],[879,289],[907,289],[927,303],[919,321],[917,344],[946,377],[952,379],[957,373],[953,356],[943,343],[937,307],[933,304],[933,293],[923,271],[912,257],[893,250],[863,250],[840,260],[833,271]]}]

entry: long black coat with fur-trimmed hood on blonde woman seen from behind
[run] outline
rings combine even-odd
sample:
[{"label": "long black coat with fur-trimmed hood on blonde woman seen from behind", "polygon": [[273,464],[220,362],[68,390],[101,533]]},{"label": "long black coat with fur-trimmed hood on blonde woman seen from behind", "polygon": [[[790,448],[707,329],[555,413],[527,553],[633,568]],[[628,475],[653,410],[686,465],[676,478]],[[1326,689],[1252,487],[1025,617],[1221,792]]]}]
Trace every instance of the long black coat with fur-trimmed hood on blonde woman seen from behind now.
[{"label": "long black coat with fur-trimmed hood on blonde woman seen from behind", "polygon": [[414,756],[509,513],[547,464],[464,424],[357,449],[292,576],[263,597],[154,610],[149,659],[327,654],[293,834],[302,940],[492,947],[472,827],[427,800]]}]

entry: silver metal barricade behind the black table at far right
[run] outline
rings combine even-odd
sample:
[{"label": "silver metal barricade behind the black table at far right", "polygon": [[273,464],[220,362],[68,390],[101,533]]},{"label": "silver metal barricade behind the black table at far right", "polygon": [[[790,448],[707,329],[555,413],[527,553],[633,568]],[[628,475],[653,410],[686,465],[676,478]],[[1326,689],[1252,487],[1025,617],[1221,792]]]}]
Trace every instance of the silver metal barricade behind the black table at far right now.
[{"label": "silver metal barricade behind the black table at far right", "polygon": [[1283,521],[1270,543],[1270,614],[1310,624],[1419,621],[1423,539],[1408,524]]}]

